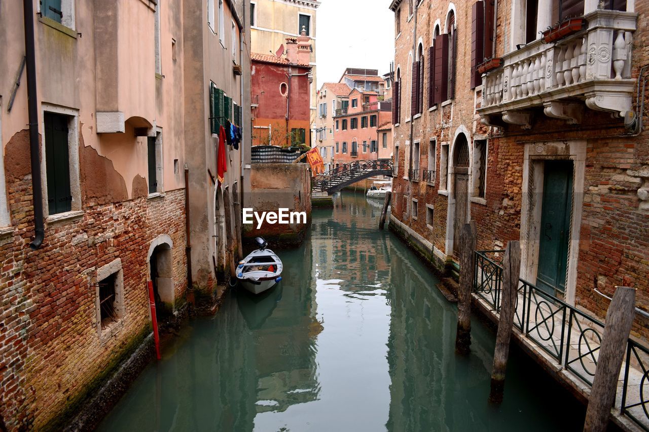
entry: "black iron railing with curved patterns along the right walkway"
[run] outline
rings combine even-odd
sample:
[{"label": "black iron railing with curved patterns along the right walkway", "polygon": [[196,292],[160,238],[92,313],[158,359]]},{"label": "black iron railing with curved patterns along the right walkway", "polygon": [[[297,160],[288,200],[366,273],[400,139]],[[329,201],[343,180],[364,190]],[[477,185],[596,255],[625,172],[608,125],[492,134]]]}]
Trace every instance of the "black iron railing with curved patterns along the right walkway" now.
[{"label": "black iron railing with curved patterns along the right walkway", "polygon": [[[500,312],[504,250],[476,251],[474,293]],[[519,279],[514,327],[560,366],[593,385],[604,323],[526,280]],[[649,349],[628,340],[621,414],[649,431]]]}]

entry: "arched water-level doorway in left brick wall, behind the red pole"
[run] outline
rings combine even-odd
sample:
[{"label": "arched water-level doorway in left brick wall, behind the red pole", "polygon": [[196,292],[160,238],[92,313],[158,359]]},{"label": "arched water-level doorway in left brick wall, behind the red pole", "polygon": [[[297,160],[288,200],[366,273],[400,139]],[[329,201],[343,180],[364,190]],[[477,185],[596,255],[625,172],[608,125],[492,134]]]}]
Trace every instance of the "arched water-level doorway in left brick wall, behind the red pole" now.
[{"label": "arched water-level doorway in left brick wall, behind the red pole", "polygon": [[165,320],[173,314],[175,307],[172,246],[169,235],[163,234],[149,248],[149,280],[153,282],[158,320]]}]

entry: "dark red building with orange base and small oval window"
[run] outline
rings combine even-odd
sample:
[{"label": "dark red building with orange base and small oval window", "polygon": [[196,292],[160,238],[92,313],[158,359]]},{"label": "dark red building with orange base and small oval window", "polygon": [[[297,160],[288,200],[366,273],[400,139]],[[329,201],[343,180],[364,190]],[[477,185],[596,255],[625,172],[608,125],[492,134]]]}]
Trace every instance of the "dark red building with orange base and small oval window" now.
[{"label": "dark red building with orange base and small oval window", "polygon": [[286,56],[252,53],[252,145],[309,143],[311,42],[286,40]]}]

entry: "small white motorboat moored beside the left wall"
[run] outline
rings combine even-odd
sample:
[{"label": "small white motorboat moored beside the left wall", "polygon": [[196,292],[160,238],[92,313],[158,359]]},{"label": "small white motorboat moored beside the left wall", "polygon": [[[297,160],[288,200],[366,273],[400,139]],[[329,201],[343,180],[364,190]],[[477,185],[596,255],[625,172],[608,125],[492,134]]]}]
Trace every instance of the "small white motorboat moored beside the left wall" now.
[{"label": "small white motorboat moored beside the left wall", "polygon": [[259,248],[239,261],[237,279],[245,289],[259,294],[282,280],[284,266],[275,252],[266,248],[268,244],[262,237],[257,237],[254,241]]}]

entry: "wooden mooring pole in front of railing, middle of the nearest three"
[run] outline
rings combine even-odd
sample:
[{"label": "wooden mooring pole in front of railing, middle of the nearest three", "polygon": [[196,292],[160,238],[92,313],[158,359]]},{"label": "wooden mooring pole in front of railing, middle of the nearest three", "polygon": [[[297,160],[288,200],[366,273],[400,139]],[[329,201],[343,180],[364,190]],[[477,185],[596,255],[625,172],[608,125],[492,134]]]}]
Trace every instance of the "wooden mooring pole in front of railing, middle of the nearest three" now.
[{"label": "wooden mooring pole in front of railing, middle of the nearest three", "polygon": [[516,296],[518,295],[520,277],[520,243],[509,241],[502,261],[502,300],[500,301],[500,319],[496,333],[496,350],[493,353],[493,370],[491,371],[491,393],[489,402],[502,402],[505,389],[505,371],[509,357],[509,339],[516,313]]}]

